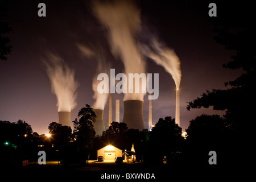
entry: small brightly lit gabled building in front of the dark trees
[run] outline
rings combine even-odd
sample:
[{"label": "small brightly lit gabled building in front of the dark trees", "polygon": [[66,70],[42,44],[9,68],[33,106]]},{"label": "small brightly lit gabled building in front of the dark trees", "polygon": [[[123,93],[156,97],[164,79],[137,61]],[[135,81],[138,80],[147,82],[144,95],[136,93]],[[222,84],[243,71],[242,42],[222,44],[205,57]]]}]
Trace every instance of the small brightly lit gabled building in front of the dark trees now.
[{"label": "small brightly lit gabled building in front of the dark trees", "polygon": [[108,145],[97,150],[97,158],[98,156],[103,156],[104,160],[114,160],[116,157],[122,157],[122,150],[112,145]]}]

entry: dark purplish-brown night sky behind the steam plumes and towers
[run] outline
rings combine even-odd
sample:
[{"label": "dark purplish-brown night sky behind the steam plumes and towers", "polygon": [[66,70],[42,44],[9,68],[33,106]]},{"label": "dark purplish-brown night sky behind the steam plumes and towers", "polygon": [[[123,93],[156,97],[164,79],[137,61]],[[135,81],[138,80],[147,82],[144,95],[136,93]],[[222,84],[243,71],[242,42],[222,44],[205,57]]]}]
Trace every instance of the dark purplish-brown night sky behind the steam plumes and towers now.
[{"label": "dark purplish-brown night sky behind the steam plumes and towers", "polygon": [[[38,16],[38,4],[46,4],[46,17]],[[145,34],[154,33],[173,48],[181,61],[180,126],[185,130],[197,115],[223,114],[209,109],[186,109],[187,102],[200,97],[206,89],[224,89],[224,82],[234,80],[242,71],[222,68],[230,61],[232,51],[213,39],[213,26],[208,22],[208,4],[187,1],[137,1],[141,9]],[[39,134],[48,133],[48,125],[58,121],[56,96],[42,63],[46,51],[56,52],[75,69],[80,83],[77,106],[71,111],[71,121],[85,104],[94,100],[92,78],[97,61],[86,59],[76,44],[100,47],[115,73],[123,72],[123,63],[115,59],[106,39],[106,29],[92,14],[90,1],[8,1],[7,20],[13,32],[9,34],[13,49],[7,61],[0,61],[0,120],[16,122],[22,119]],[[217,13],[218,13],[217,4]],[[221,8],[221,7],[220,7]],[[132,13],[132,12],[131,12]],[[218,14],[217,14],[218,15]],[[212,17],[214,18],[214,17]],[[175,83],[164,68],[147,60],[147,72],[159,73],[159,98],[152,101],[152,122],[175,117]],[[123,117],[123,94],[113,94],[120,100],[120,120]],[[148,119],[148,100],[144,97],[144,120]],[[104,111],[108,123],[108,102]]]}]

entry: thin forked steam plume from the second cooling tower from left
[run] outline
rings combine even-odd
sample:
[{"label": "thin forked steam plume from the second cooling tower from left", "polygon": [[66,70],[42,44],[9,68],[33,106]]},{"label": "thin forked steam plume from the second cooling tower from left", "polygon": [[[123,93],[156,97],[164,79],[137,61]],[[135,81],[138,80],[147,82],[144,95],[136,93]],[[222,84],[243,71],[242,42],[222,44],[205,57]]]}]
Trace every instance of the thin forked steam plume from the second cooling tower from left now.
[{"label": "thin forked steam plume from the second cooling tower from left", "polygon": [[93,104],[93,109],[101,109],[104,110],[104,107],[106,105],[106,102],[108,101],[108,93],[99,93],[97,90],[98,84],[101,82],[101,80],[97,80],[97,76],[100,73],[106,73],[108,75],[110,72],[110,64],[106,63],[104,59],[104,53],[100,51],[101,49],[97,49],[97,53],[92,51],[90,48],[82,45],[82,44],[77,44],[77,47],[80,49],[82,55],[88,58],[94,58],[97,59],[98,65],[97,65],[97,70],[96,74],[93,76],[93,81],[92,81],[92,89],[94,91],[93,98],[95,99],[95,102]]}]

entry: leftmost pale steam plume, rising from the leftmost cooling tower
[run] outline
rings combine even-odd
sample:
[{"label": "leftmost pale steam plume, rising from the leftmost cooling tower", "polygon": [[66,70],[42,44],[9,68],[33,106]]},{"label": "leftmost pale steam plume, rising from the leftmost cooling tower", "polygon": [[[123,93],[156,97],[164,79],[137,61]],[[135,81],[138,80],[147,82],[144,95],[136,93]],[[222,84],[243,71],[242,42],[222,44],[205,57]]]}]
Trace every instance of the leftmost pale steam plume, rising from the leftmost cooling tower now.
[{"label": "leftmost pale steam plume, rising from the leftmost cooling tower", "polygon": [[46,65],[47,75],[51,81],[52,93],[56,94],[58,111],[70,112],[76,105],[76,89],[79,83],[75,80],[75,71],[70,69],[60,56],[48,52]]}]

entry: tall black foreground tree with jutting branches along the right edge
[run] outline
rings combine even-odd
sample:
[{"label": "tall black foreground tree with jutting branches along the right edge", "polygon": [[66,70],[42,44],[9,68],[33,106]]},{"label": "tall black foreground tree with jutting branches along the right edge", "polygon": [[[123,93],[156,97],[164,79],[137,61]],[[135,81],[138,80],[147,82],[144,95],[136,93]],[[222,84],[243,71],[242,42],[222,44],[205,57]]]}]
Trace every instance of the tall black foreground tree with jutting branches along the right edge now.
[{"label": "tall black foreground tree with jutting branches along the right edge", "polygon": [[202,93],[201,97],[188,102],[187,109],[213,106],[215,110],[225,110],[223,117],[229,138],[229,148],[226,147],[226,150],[231,154],[230,158],[236,158],[238,164],[238,160],[250,161],[256,152],[252,144],[256,139],[255,135],[249,132],[256,127],[253,119],[255,109],[252,105],[256,101],[255,20],[252,7],[246,3],[220,2],[218,7],[218,16],[210,19],[216,34],[214,39],[234,52],[232,59],[223,64],[223,67],[242,69],[244,73],[235,80],[225,82],[226,89],[212,89]]}]

